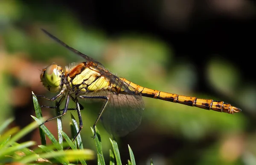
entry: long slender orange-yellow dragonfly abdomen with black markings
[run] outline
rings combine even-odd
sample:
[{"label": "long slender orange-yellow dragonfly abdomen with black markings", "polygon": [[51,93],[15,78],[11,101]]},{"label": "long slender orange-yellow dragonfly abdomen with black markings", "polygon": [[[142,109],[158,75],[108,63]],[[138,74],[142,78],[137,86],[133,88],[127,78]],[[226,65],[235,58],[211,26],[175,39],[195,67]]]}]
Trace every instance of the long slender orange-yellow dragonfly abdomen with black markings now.
[{"label": "long slender orange-yellow dragonfly abdomen with black markings", "polygon": [[134,87],[142,94],[142,96],[145,97],[157,98],[160,100],[180,103],[192,107],[199,107],[205,110],[214,110],[217,112],[237,113],[241,111],[241,109],[234,107],[231,104],[225,103],[224,101],[214,101],[212,99],[202,99],[190,96],[177,95],[174,93],[166,93],[141,87],[140,85],[134,84],[131,81],[126,80],[125,78],[122,78],[122,80]]}]

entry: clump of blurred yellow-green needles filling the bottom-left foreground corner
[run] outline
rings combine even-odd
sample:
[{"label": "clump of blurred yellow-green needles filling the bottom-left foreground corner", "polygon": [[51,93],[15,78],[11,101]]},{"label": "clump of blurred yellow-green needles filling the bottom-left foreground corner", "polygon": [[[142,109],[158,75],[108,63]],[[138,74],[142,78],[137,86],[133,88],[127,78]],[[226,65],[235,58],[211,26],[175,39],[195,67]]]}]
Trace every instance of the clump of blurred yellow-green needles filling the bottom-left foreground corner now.
[{"label": "clump of blurred yellow-green needles filling the bottom-left foreground corner", "polygon": [[[52,146],[39,145],[34,151],[32,151],[29,148],[35,145],[35,142],[27,141],[19,144],[17,143],[17,140],[26,136],[27,133],[38,127],[38,123],[33,122],[22,130],[17,127],[13,127],[10,130],[6,129],[12,120],[13,119],[5,120],[3,125],[0,127],[1,164],[52,164],[52,162],[61,162],[61,164],[67,165],[70,163],[69,161],[76,162],[79,159],[81,160],[82,165],[86,165],[84,159],[91,160],[94,158],[93,151],[88,149],[63,151],[63,148],[61,149],[57,147],[60,146],[60,144],[56,139],[55,141],[57,145],[54,143]],[[40,121],[39,119],[37,120]],[[6,130],[6,132],[3,130]],[[51,139],[51,137],[49,138]],[[55,151],[56,149],[58,151]]]}]

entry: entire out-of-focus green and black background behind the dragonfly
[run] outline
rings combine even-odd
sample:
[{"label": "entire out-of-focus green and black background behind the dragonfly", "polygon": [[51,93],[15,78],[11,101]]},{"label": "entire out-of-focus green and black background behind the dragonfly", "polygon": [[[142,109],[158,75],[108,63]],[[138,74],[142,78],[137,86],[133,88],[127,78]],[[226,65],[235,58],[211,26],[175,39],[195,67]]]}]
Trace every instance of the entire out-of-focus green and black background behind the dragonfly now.
[{"label": "entire out-of-focus green and black background behind the dragonfly", "polygon": [[[255,14],[256,6],[246,0],[0,0],[0,124],[10,117],[15,117],[13,126],[33,121],[31,91],[54,95],[40,82],[43,67],[82,61],[41,32],[44,28],[119,77],[165,92],[223,100],[243,110],[230,115],[145,98],[140,127],[117,139],[124,163],[129,144],[139,165],[150,158],[157,165],[254,165],[251,57],[256,51],[250,40],[255,39]],[[95,150],[90,127],[99,111],[90,101],[81,103],[84,147]],[[70,133],[69,113],[63,122]],[[57,136],[55,121],[46,126]],[[108,155],[110,135],[101,123],[97,127]],[[40,145],[38,130],[22,141],[30,139]]]}]

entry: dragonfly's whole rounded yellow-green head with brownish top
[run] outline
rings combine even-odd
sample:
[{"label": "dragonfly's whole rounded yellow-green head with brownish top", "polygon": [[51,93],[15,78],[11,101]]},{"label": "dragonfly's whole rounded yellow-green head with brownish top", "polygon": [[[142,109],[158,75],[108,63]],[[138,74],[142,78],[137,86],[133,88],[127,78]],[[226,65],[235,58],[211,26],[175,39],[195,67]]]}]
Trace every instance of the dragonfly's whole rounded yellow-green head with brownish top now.
[{"label": "dragonfly's whole rounded yellow-green head with brownish top", "polygon": [[43,69],[40,78],[44,87],[46,87],[52,93],[58,93],[62,88],[62,79],[64,72],[61,66],[52,64],[49,67]]}]

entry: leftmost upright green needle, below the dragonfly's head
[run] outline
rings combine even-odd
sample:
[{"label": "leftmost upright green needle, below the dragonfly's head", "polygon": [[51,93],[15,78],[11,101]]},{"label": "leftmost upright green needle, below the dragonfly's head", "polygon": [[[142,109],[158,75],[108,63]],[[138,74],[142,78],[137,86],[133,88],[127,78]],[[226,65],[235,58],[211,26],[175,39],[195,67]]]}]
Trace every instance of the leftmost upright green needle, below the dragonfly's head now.
[{"label": "leftmost upright green needle, below the dragonfly's head", "polygon": [[[32,96],[33,96],[33,103],[34,103],[34,108],[35,108],[35,116],[38,119],[41,119],[42,111],[41,111],[40,105],[38,103],[38,99],[36,96],[34,96],[33,92],[32,92]],[[40,134],[40,139],[41,139],[41,145],[46,145],[46,137],[45,137],[44,131],[42,130],[41,127],[39,127],[39,134]]]}]

